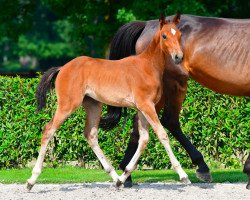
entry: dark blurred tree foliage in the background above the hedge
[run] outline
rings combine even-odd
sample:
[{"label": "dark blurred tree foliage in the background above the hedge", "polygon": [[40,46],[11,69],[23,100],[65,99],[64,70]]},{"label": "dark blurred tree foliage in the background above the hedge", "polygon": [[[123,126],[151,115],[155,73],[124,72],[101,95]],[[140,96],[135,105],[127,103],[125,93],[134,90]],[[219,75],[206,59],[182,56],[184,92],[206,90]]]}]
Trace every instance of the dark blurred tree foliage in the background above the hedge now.
[{"label": "dark blurred tree foliage in the background above the hedge", "polygon": [[45,71],[78,55],[105,57],[118,27],[160,13],[250,17],[248,0],[0,0],[0,5],[0,71]]}]

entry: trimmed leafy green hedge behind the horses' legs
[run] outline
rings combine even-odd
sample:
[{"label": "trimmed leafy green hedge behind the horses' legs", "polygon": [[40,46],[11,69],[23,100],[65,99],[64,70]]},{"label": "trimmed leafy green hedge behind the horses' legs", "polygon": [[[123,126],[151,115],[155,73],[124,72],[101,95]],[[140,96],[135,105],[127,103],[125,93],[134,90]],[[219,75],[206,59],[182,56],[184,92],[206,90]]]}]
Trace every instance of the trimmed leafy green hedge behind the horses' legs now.
[{"label": "trimmed leafy green hedge behind the horses' legs", "polygon": [[[38,155],[41,131],[55,111],[56,98],[51,92],[48,107],[37,113],[34,95],[37,83],[38,79],[0,76],[0,168],[26,166]],[[99,131],[99,143],[116,167],[123,158],[134,113],[129,110],[124,128],[121,121],[112,131]],[[84,120],[85,113],[80,108],[64,122],[50,144],[47,163],[58,165],[78,160],[87,167],[100,166],[82,134]],[[219,95],[190,81],[181,126],[210,166],[238,168],[250,149],[249,97]],[[188,155],[172,137],[171,144],[183,167],[192,167]],[[168,156],[152,131],[139,166],[170,167]]]}]

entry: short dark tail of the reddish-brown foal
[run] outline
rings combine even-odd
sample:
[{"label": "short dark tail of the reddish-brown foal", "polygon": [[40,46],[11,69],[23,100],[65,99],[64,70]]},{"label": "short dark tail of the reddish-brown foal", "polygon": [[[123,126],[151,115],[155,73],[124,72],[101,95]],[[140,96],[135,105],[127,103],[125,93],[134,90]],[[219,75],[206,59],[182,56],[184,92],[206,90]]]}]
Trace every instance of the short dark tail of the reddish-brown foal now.
[{"label": "short dark tail of the reddish-brown foal", "polygon": [[42,76],[36,90],[37,111],[46,107],[46,93],[52,88],[52,79],[59,71],[60,67],[52,67]]}]

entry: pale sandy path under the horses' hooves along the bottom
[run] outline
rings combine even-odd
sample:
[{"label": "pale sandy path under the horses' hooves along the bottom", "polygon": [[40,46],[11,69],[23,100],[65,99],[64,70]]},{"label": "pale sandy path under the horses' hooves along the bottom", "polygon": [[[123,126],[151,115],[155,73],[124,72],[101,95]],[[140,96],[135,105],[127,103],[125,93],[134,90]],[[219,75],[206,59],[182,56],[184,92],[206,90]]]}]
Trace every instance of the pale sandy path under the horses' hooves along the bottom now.
[{"label": "pale sandy path under the horses' hooves along the bottom", "polygon": [[143,183],[116,189],[111,183],[37,184],[27,192],[23,184],[0,184],[0,199],[29,200],[250,200],[245,183]]}]

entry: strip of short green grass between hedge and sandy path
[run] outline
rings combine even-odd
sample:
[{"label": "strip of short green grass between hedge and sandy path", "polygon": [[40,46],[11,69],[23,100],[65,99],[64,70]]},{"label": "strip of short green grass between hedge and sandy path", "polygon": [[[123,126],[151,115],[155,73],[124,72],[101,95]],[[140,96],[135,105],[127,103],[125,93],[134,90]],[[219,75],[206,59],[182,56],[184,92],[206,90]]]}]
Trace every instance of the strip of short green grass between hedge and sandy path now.
[{"label": "strip of short green grass between hedge and sandy path", "polygon": [[[0,183],[25,183],[32,169],[0,170]],[[192,183],[200,182],[195,170],[185,170]],[[121,174],[121,171],[118,171]],[[213,182],[247,182],[247,176],[241,169],[212,170]],[[136,170],[133,172],[134,182],[177,182],[178,175],[173,170]],[[44,168],[38,183],[84,183],[106,182],[111,177],[101,169],[83,169],[79,167]]]}]

